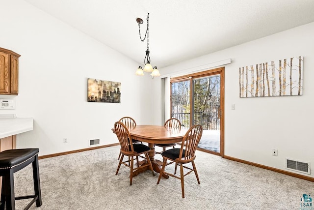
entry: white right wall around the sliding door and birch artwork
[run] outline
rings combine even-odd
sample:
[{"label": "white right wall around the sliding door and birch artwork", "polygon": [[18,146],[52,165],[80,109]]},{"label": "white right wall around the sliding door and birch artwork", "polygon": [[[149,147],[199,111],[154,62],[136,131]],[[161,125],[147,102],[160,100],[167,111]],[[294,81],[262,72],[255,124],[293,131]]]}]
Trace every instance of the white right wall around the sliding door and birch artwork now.
[{"label": "white right wall around the sliding door and birch artwork", "polygon": [[[285,169],[285,158],[310,162],[314,177],[314,23],[161,68],[161,74],[197,69],[219,60],[225,65],[225,155]],[[239,67],[272,60],[304,57],[303,95],[239,98]],[[210,66],[210,65],[209,65]],[[154,80],[154,109],[160,109],[160,81]],[[235,110],[231,110],[235,104]],[[160,114],[154,123],[160,124]],[[272,150],[278,156],[272,156]],[[288,170],[287,170],[288,171]]]}]

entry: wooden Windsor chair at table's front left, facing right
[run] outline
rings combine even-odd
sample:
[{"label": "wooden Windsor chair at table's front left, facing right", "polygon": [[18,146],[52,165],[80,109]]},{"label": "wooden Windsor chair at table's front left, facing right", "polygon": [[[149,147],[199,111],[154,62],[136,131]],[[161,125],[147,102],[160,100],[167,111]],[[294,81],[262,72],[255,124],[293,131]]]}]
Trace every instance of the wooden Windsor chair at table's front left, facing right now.
[{"label": "wooden Windsor chair at table's front left, facing right", "polygon": [[[138,165],[138,156],[141,154],[144,154],[145,159],[146,159],[147,163],[149,164],[149,168],[152,171],[153,176],[155,176],[152,162],[151,162],[149,155],[148,155],[148,152],[150,152],[151,149],[146,145],[133,144],[130,132],[128,130],[128,127],[125,126],[122,122],[120,122],[120,121],[115,122],[114,123],[114,129],[115,129],[116,135],[119,139],[119,143],[121,146],[121,149],[120,149],[121,158],[119,160],[119,165],[118,165],[116,175],[119,172],[121,164],[128,166],[130,168],[130,172],[131,172],[130,173],[130,185],[132,185],[133,171],[144,168],[147,166],[146,164],[143,164],[141,166]],[[129,160],[123,161],[124,156],[131,157],[131,159],[129,158]],[[133,168],[134,156],[137,159],[137,168]]]}]

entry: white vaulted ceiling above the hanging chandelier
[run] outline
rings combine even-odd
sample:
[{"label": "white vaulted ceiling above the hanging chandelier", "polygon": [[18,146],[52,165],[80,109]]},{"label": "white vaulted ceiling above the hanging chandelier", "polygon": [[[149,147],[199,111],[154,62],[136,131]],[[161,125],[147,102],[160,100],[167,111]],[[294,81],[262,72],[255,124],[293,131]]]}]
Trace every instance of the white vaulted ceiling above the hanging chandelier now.
[{"label": "white vaulted ceiling above the hanging chandelier", "polygon": [[136,18],[149,15],[158,68],[314,22],[314,0],[25,0],[77,30],[144,62]]}]

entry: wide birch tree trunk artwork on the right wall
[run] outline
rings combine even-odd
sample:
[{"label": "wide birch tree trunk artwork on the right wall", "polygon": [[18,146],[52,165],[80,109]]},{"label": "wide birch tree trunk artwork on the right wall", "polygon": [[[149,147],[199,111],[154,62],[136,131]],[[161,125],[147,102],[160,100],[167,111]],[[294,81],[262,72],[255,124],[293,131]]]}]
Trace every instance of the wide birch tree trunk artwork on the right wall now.
[{"label": "wide birch tree trunk artwork on the right wall", "polygon": [[240,97],[303,94],[303,57],[239,67]]}]

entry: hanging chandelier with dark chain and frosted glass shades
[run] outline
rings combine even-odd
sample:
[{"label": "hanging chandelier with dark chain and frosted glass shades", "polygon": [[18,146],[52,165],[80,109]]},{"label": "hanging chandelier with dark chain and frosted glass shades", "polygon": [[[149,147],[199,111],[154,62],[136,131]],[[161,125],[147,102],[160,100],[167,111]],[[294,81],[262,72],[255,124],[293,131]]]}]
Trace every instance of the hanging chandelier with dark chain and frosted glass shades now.
[{"label": "hanging chandelier with dark chain and frosted glass shades", "polygon": [[141,18],[137,18],[136,19],[136,22],[138,23],[139,38],[141,39],[141,41],[144,42],[144,40],[146,39],[146,36],[147,36],[147,48],[146,48],[146,55],[145,55],[145,58],[144,58],[144,64],[145,64],[144,69],[142,68],[142,66],[138,66],[138,69],[136,70],[135,74],[136,75],[144,75],[143,71],[145,71],[145,72],[152,72],[151,73],[152,77],[158,77],[158,76],[160,76],[160,73],[159,73],[159,71],[157,69],[157,66],[154,66],[154,68],[153,68],[153,66],[151,65],[151,58],[149,56],[148,16],[149,16],[149,13],[148,13],[147,18],[146,18],[146,20],[147,20],[147,29],[146,29],[145,36],[144,36],[143,39],[141,37],[141,29],[140,29],[140,25],[143,24],[143,20]]}]

